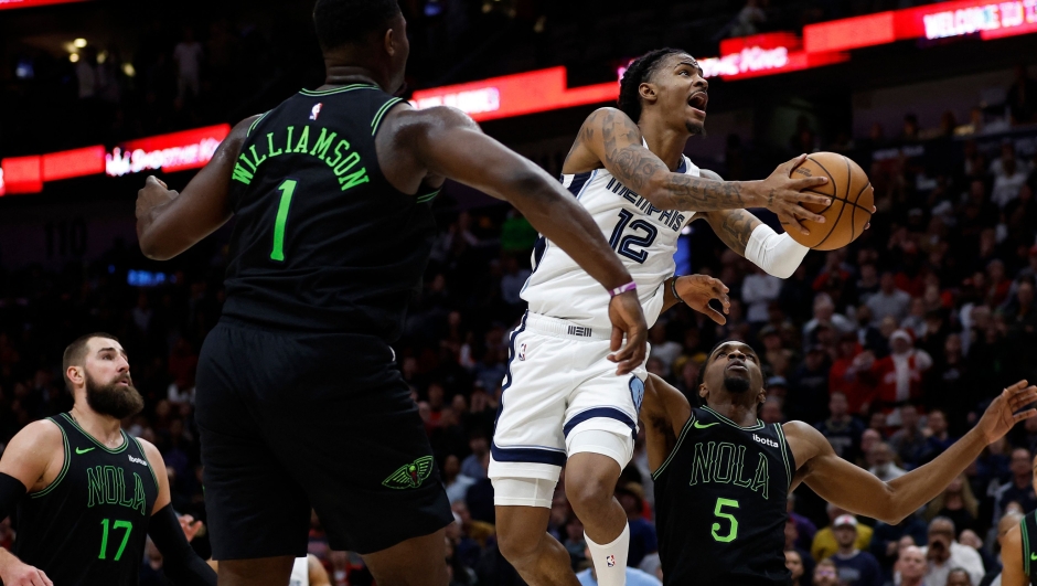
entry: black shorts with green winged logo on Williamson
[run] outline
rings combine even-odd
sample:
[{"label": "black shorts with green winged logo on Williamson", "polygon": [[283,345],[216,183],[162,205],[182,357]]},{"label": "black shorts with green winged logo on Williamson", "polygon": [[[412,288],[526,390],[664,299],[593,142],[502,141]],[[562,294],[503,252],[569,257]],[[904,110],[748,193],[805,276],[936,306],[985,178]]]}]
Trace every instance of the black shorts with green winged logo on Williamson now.
[{"label": "black shorts with green winged logo on Williamson", "polygon": [[311,509],[332,548],[361,554],[453,520],[377,338],[224,318],[202,348],[195,397],[215,560],[306,555]]}]

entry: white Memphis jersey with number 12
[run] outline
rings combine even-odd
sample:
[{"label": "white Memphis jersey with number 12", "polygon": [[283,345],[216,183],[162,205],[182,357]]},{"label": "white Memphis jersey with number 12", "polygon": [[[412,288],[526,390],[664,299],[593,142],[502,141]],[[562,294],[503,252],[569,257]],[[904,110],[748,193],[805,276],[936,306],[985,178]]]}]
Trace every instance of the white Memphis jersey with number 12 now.
[{"label": "white Memphis jersey with number 12", "polygon": [[[683,156],[682,156],[683,157]],[[677,172],[701,177],[687,157]],[[649,327],[663,308],[663,284],[673,276],[681,231],[695,212],[659,210],[619,182],[606,169],[562,175],[565,185],[590,213],[638,284]],[[533,249],[533,274],[522,289],[530,311],[569,320],[608,334],[609,294],[557,245],[543,236]]]}]

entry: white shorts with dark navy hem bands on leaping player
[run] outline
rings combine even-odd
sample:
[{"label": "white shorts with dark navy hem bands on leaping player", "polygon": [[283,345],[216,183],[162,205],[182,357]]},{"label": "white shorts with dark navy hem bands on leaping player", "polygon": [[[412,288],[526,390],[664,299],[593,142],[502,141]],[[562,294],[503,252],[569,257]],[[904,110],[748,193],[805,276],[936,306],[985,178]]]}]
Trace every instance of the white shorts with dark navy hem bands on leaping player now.
[{"label": "white shorts with dark navy hem bands on leaping player", "polygon": [[617,436],[621,444],[613,451],[624,455],[609,455],[620,468],[627,465],[638,435],[648,373],[639,366],[630,374],[616,374],[616,363],[607,358],[610,334],[526,312],[510,337],[507,372],[490,446],[491,480],[557,482],[567,456],[598,451],[574,449],[567,443],[585,430]]}]

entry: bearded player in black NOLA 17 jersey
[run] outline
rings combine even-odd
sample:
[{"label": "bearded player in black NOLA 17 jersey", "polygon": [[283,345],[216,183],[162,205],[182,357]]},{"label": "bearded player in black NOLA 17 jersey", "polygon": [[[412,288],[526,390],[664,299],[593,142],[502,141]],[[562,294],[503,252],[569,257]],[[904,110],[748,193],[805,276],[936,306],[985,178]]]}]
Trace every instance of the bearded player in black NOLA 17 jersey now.
[{"label": "bearded player in black NOLA 17 jersey", "polygon": [[26,425],[0,458],[0,519],[18,515],[13,553],[0,550],[4,586],[136,586],[148,535],[174,584],[215,586],[170,504],[162,456],[121,429],[143,398],[119,341],[84,335],[62,366],[72,411]]}]

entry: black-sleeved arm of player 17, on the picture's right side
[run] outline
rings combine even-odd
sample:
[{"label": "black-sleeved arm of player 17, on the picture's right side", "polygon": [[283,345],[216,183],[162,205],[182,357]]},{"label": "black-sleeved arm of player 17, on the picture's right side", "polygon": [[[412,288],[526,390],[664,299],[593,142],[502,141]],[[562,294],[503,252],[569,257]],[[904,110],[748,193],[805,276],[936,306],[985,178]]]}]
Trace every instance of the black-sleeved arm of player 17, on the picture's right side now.
[{"label": "black-sleeved arm of player 17, on the picture's right side", "polygon": [[[197,531],[197,525],[183,528],[170,502],[169,475],[159,449],[151,443],[139,440],[148,465],[159,483],[159,497],[151,509],[148,535],[162,553],[162,569],[177,586],[216,586],[216,573],[191,548],[184,531]],[[193,536],[193,534],[192,534]]]}]

